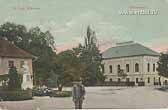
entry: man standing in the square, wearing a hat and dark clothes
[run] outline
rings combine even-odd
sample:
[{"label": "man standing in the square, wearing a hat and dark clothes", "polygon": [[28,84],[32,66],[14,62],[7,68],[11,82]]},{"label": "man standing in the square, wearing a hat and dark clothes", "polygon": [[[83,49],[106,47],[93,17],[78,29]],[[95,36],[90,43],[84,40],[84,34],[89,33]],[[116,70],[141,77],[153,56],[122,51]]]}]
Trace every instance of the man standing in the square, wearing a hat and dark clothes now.
[{"label": "man standing in the square, wearing a hat and dark clothes", "polygon": [[82,103],[85,96],[85,88],[82,82],[74,82],[72,97],[75,103],[75,109],[82,109]]}]

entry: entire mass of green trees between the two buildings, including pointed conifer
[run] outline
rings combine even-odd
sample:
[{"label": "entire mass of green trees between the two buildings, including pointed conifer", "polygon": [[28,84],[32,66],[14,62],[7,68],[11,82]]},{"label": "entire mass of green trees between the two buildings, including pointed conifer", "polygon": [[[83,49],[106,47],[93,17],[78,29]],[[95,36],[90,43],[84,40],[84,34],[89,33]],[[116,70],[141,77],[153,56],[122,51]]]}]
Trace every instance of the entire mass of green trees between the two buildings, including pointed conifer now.
[{"label": "entire mass of green trees between the two buildings, including pointed conifer", "polygon": [[55,87],[70,84],[82,78],[85,85],[104,81],[101,72],[101,54],[95,32],[88,26],[84,45],[56,54],[54,37],[39,27],[27,29],[24,25],[7,22],[0,26],[0,37],[6,37],[16,46],[36,56],[33,60],[35,85]]}]

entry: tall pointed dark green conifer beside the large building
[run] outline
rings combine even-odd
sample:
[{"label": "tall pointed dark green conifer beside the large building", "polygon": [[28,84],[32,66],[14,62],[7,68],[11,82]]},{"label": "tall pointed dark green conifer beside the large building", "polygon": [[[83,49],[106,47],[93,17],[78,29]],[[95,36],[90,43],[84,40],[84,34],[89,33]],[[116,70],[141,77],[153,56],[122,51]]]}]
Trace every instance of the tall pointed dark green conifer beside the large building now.
[{"label": "tall pointed dark green conifer beside the large building", "polygon": [[101,71],[102,57],[97,45],[95,32],[90,26],[87,28],[85,43],[81,48],[80,60],[85,68],[82,79],[85,85],[95,85],[104,81],[104,75]]}]

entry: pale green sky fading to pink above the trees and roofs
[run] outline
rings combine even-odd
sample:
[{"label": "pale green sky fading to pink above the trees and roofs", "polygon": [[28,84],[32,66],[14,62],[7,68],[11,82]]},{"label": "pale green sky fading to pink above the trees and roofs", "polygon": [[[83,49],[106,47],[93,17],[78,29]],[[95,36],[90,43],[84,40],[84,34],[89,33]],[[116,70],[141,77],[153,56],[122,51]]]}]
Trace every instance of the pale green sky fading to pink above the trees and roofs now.
[{"label": "pale green sky fading to pink above the trees and roofs", "polygon": [[[0,0],[0,7],[0,24],[49,30],[58,52],[83,43],[88,25],[101,51],[130,40],[168,50],[168,0]],[[155,13],[130,13],[142,10]]]}]

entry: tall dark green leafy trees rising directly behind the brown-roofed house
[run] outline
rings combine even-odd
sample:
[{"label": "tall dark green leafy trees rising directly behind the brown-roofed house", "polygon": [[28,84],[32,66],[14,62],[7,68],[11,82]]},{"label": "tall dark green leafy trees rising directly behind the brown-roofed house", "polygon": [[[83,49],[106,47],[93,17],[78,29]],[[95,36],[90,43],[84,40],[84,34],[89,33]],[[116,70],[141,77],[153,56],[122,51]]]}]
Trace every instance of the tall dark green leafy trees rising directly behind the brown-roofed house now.
[{"label": "tall dark green leafy trees rising directly behind the brown-roofed house", "polygon": [[36,56],[33,62],[34,84],[47,83],[53,71],[52,58],[54,52],[54,38],[49,31],[42,32],[39,27],[29,30],[20,24],[4,23],[0,26],[0,37],[6,37],[16,46]]}]

